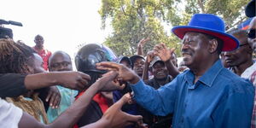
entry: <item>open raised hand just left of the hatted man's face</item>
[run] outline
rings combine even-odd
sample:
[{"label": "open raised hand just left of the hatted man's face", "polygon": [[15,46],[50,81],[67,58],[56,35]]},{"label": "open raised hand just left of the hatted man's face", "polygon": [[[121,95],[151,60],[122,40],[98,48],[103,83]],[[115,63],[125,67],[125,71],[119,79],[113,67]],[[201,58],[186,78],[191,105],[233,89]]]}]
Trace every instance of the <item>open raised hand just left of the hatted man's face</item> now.
[{"label": "open raised hand just left of the hatted man's face", "polygon": [[168,49],[166,44],[157,44],[154,46],[154,55],[158,55],[162,61],[168,61],[172,58],[175,48]]}]

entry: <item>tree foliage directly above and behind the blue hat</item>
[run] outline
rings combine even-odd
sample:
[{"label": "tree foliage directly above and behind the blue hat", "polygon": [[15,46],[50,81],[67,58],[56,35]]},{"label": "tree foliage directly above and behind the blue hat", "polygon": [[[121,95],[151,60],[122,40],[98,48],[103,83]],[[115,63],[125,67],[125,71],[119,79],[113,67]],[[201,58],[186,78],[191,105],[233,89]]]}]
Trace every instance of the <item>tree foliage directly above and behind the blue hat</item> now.
[{"label": "tree foliage directly above and behind the blue hat", "polygon": [[193,15],[195,13],[214,14],[222,17],[226,23],[226,28],[234,28],[247,17],[244,14],[244,7],[250,0],[187,0],[185,13]]}]

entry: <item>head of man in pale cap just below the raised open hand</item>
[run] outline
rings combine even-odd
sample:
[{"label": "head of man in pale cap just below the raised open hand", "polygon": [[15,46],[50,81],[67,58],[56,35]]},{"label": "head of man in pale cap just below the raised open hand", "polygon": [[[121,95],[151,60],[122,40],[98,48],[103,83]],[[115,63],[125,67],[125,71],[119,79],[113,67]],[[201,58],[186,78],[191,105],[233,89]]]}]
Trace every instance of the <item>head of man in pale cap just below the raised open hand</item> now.
[{"label": "head of man in pale cap just below the raised open hand", "polygon": [[164,61],[161,61],[159,57],[155,56],[154,61],[151,61],[149,66],[150,72],[154,75],[154,79],[166,79],[168,76],[168,70]]}]

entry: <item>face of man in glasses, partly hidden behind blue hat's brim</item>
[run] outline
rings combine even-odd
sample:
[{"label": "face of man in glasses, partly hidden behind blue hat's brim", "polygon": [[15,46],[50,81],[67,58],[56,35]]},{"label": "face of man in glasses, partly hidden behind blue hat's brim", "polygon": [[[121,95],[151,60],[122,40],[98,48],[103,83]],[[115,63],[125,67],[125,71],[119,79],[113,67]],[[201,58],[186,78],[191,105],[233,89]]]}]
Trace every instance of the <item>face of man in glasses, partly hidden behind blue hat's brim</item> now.
[{"label": "face of man in glasses, partly hidden behind blue hat's brim", "polygon": [[[239,66],[245,62],[247,62],[247,55],[252,53],[252,49],[249,44],[247,44],[247,38],[242,35],[233,35],[235,38],[239,40],[240,47],[238,49],[224,52],[225,62],[229,67]],[[250,60],[251,61],[251,60]]]}]

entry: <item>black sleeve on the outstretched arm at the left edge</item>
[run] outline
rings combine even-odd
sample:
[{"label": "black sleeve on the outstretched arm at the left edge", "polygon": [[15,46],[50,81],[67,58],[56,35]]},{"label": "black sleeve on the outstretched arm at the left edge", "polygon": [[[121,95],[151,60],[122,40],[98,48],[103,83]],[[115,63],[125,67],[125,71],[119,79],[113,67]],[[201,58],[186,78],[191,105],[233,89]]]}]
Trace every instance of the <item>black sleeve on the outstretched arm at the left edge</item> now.
[{"label": "black sleeve on the outstretched arm at the left edge", "polygon": [[0,74],[0,97],[16,97],[26,93],[25,78],[26,75],[18,73]]}]

